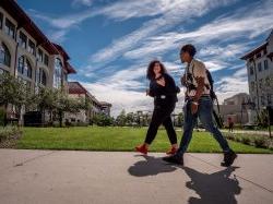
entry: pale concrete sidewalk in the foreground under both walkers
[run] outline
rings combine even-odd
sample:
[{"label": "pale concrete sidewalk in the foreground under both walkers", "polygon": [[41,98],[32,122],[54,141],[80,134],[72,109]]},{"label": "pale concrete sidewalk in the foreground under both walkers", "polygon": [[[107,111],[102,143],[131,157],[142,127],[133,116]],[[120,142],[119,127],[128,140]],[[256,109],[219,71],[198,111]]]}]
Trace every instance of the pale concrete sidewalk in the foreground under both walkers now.
[{"label": "pale concrete sidewalk in the foreground under both walkers", "polygon": [[273,155],[164,154],[0,149],[0,203],[272,204]]}]

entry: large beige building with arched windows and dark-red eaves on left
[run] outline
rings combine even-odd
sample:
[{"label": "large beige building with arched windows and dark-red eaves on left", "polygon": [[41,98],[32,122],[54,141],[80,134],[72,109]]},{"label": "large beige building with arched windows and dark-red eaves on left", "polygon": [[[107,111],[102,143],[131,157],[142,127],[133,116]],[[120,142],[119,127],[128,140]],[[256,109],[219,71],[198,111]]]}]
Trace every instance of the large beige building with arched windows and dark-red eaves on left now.
[{"label": "large beige building with arched windows and dark-red eaves on left", "polygon": [[[14,0],[0,1],[0,74],[10,73],[31,92],[37,93],[39,87],[68,89],[68,75],[75,73],[69,59]],[[8,112],[12,108],[9,106]]]}]

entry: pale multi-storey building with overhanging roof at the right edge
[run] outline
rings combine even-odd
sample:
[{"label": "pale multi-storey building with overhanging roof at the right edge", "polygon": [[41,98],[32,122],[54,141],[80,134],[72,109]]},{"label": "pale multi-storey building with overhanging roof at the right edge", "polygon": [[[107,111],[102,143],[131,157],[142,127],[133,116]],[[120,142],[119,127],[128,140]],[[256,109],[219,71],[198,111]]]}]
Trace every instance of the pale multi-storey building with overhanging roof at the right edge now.
[{"label": "pale multi-storey building with overhanging roof at the right edge", "polygon": [[265,43],[241,59],[246,60],[251,101],[259,111],[265,106],[273,107],[273,29]]}]

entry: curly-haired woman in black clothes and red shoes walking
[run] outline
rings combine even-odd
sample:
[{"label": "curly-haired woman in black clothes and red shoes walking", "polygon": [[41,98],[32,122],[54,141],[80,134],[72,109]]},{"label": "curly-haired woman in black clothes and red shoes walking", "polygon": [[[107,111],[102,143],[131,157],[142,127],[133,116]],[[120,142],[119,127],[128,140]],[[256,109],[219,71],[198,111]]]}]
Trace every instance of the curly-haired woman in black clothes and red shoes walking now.
[{"label": "curly-haired woman in black clothes and red shoes walking", "polygon": [[171,144],[171,148],[166,154],[173,155],[176,153],[178,145],[170,115],[176,107],[177,93],[180,89],[176,86],[174,79],[167,74],[164,64],[158,60],[154,60],[149,64],[146,77],[150,80],[150,89],[147,89],[146,94],[154,97],[154,111],[145,141],[142,145],[136,146],[135,151],[147,154],[159,125],[163,124]]}]

